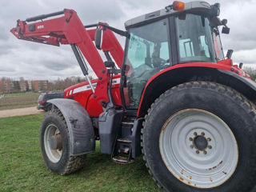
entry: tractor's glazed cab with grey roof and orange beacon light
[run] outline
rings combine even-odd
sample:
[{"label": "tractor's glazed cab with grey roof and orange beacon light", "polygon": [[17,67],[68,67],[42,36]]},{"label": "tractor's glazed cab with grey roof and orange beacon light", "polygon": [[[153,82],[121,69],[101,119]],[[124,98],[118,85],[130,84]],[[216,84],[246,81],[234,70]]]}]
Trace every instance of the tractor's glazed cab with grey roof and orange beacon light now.
[{"label": "tractor's glazed cab with grey roof and orange beacon light", "polygon": [[225,59],[218,26],[219,4],[174,2],[163,10],[130,19],[124,58],[127,109],[138,109],[142,90],[154,74],[182,63],[217,63]]}]

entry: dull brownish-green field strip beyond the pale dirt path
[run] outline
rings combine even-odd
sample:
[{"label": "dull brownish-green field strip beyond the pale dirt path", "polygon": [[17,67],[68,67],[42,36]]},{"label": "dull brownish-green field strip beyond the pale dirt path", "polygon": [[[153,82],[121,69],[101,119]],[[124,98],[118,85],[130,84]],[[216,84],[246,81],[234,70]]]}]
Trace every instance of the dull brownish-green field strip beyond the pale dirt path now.
[{"label": "dull brownish-green field strip beyond the pale dirt path", "polygon": [[6,94],[0,98],[0,110],[36,106],[40,93]]}]

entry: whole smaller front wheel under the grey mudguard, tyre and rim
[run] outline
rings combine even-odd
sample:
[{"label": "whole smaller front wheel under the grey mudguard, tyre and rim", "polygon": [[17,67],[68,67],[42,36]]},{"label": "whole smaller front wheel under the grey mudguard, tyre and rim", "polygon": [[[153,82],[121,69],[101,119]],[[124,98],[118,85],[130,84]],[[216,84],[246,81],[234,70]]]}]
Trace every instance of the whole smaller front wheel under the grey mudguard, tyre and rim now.
[{"label": "whole smaller front wheel under the grey mudguard, tyre and rim", "polygon": [[46,166],[52,172],[64,175],[82,168],[84,157],[70,154],[69,131],[60,110],[50,110],[43,119],[40,146]]}]

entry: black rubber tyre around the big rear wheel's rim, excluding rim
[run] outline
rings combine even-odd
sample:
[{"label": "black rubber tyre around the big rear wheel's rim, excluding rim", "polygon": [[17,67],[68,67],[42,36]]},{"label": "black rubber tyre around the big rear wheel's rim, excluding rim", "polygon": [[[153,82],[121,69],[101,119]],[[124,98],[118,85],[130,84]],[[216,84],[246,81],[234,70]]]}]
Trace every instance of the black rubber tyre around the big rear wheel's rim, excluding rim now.
[{"label": "black rubber tyre around the big rear wheel's rim, excluding rim", "polygon": [[[199,109],[218,116],[230,127],[238,144],[234,174],[219,186],[198,188],[184,183],[168,169],[160,151],[160,134],[178,111]],[[158,186],[172,192],[250,192],[256,181],[256,110],[237,91],[214,82],[187,82],[167,90],[151,105],[142,129],[142,153]],[[182,150],[182,149],[181,149]],[[221,162],[222,163],[222,162]],[[226,174],[226,173],[224,173]]]}]

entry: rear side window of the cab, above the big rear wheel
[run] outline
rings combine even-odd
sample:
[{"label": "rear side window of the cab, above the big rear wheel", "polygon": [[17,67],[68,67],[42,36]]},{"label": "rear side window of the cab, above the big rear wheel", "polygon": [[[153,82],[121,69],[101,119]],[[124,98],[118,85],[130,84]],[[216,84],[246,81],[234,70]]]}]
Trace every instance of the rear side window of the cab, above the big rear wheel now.
[{"label": "rear side window of the cab, above the big rear wheel", "polygon": [[176,18],[179,62],[216,62],[208,18],[185,14]]}]

